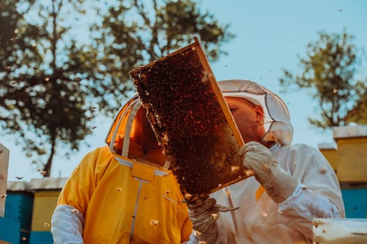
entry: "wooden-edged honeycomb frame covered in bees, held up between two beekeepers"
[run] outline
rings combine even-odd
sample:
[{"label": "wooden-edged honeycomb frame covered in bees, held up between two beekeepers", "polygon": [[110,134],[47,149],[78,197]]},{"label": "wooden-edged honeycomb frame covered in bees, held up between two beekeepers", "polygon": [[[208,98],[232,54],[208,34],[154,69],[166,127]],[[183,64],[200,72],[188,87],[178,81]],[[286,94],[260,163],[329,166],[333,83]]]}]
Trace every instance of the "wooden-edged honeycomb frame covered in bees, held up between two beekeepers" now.
[{"label": "wooden-edged honeycomb frame covered in bees, held up between two beekeepers", "polygon": [[243,139],[197,38],[129,75],[187,201],[252,175],[242,166]]}]

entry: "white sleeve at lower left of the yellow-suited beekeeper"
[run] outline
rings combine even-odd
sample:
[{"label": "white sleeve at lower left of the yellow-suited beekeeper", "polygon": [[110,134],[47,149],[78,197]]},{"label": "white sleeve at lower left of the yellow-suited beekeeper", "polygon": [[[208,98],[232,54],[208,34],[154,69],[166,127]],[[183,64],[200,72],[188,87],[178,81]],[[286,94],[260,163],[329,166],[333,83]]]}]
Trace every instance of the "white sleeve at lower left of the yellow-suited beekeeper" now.
[{"label": "white sleeve at lower left of the yellow-suited beekeeper", "polygon": [[55,244],[82,244],[84,216],[69,205],[57,206],[51,218],[51,233]]}]

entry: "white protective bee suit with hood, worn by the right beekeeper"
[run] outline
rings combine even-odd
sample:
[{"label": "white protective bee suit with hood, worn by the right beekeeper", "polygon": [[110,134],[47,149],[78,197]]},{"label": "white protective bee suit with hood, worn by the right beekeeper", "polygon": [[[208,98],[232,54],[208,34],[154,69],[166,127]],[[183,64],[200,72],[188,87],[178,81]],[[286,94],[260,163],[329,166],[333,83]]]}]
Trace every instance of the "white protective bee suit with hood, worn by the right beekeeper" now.
[{"label": "white protective bee suit with hood, worn by the right beekeeper", "polygon": [[293,194],[280,204],[254,177],[214,192],[217,204],[239,207],[220,213],[218,243],[312,243],[313,218],[345,218],[336,174],[322,153],[292,143],[293,128],[285,103],[263,86],[247,80],[218,82],[224,97],[245,98],[264,108],[264,141],[280,167],[298,179]]}]

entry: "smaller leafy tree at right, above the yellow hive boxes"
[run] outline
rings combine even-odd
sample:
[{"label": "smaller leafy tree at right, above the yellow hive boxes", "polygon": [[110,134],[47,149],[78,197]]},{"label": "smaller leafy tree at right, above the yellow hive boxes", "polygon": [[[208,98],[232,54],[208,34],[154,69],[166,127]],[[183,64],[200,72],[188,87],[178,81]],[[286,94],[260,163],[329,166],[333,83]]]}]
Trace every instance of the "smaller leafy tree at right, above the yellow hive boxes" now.
[{"label": "smaller leafy tree at right, above the yellow hive boxes", "polygon": [[312,91],[321,119],[308,118],[308,121],[317,128],[367,121],[367,79],[357,77],[360,52],[352,44],[353,39],[345,30],[342,34],[319,32],[319,40],[310,43],[305,58],[299,59],[302,73],[293,75],[283,69],[284,77],[280,78],[283,92],[292,86]]}]

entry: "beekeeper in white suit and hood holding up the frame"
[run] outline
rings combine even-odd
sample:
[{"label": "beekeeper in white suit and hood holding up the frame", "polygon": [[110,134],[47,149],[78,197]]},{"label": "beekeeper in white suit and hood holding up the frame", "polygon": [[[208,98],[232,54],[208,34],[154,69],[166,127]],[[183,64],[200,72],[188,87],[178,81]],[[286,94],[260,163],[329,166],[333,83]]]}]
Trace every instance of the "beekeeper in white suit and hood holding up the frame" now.
[{"label": "beekeeper in white suit and hood holding up the frame", "polygon": [[[340,186],[324,156],[292,143],[289,112],[255,82],[218,82],[245,145],[243,165],[254,177],[189,206],[192,243],[312,243],[313,218],[345,218]],[[218,213],[215,203],[236,211]]]}]

